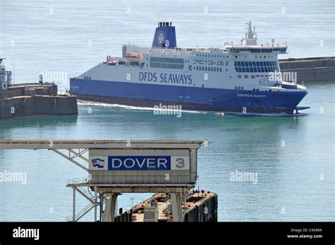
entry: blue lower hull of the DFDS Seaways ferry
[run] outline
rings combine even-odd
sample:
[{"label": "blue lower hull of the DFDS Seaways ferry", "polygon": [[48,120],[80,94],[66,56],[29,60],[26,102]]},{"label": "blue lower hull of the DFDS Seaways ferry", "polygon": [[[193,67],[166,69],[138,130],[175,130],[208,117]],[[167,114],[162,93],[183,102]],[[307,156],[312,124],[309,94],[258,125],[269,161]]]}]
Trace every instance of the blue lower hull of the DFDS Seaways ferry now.
[{"label": "blue lower hull of the DFDS Seaways ferry", "polygon": [[162,104],[182,109],[213,112],[293,114],[306,90],[295,92],[227,90],[174,85],[122,83],[104,80],[70,79],[71,92],[81,100],[139,107]]}]

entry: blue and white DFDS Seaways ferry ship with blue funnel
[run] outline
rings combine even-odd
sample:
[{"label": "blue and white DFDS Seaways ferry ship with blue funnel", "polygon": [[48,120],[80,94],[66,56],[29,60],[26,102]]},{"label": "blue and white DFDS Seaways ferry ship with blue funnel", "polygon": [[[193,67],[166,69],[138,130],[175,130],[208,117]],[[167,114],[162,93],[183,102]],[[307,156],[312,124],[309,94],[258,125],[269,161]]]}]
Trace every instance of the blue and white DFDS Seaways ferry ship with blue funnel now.
[{"label": "blue and white DFDS Seaways ferry ship with blue funnel", "polygon": [[177,47],[175,26],[160,22],[151,47],[123,45],[122,57],[70,78],[78,99],[138,107],[177,105],[184,110],[295,114],[305,86],[283,81],[278,54],[287,44],[257,44],[251,22],[238,45]]}]

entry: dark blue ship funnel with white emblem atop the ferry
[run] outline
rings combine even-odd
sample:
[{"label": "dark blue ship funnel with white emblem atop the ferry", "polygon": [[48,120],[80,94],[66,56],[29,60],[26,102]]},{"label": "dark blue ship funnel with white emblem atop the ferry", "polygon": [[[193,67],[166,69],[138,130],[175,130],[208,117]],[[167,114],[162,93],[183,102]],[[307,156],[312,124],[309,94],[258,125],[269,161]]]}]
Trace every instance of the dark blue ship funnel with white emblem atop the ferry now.
[{"label": "dark blue ship funnel with white emblem atop the ferry", "polygon": [[175,26],[172,22],[159,22],[153,37],[152,47],[173,49],[177,47]]}]

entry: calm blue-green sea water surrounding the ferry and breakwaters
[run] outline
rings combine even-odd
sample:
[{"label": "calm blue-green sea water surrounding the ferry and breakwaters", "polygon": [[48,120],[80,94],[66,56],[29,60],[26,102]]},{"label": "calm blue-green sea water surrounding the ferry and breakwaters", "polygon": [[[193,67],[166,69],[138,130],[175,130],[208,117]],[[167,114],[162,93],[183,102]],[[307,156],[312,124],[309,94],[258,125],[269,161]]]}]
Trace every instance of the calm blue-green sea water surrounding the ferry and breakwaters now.
[{"label": "calm blue-green sea water surrounding the ferry and breakwaters", "polygon": [[[177,26],[180,46],[237,43],[252,20],[261,42],[288,41],[283,58],[334,56],[333,15],[332,1],[1,1],[0,56],[8,69],[15,65],[16,83],[61,72],[66,77],[57,84],[64,89],[107,54],[120,55],[124,43],[150,46],[160,20]],[[78,116],[0,121],[0,139],[207,139],[211,145],[199,150],[199,187],[218,193],[219,220],[334,221],[335,86],[307,87],[301,105],[312,108],[306,116],[184,112],[177,118],[81,103]],[[28,181],[0,182],[0,221],[71,215],[66,179],[85,176],[81,169],[47,150],[1,150],[5,169],[27,172]],[[257,184],[230,181],[235,171],[257,172]],[[148,196],[123,195],[118,204],[127,208],[131,197],[136,203]],[[87,205],[81,198],[78,204]]]}]

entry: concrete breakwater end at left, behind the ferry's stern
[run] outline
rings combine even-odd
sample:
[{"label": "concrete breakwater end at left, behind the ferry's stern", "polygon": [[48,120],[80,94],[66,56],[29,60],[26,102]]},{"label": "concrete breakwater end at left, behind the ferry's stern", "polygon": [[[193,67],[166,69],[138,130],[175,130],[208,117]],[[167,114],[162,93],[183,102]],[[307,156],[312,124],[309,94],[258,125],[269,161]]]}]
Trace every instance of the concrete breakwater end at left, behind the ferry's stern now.
[{"label": "concrete breakwater end at left, behind the ferry's stern", "polygon": [[11,85],[0,91],[0,119],[35,114],[78,114],[76,97],[57,95],[53,83]]}]

